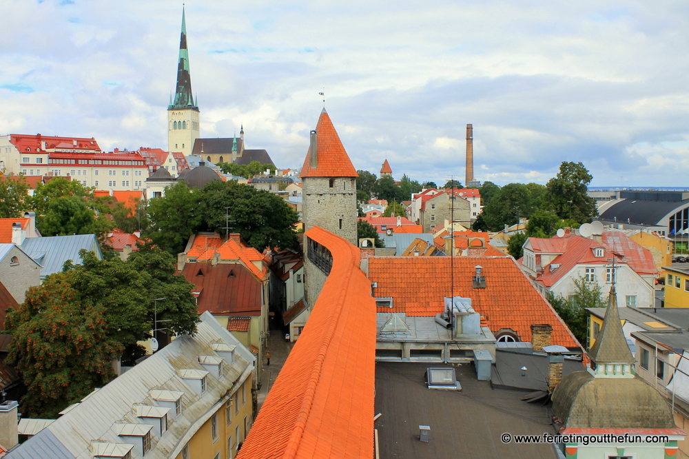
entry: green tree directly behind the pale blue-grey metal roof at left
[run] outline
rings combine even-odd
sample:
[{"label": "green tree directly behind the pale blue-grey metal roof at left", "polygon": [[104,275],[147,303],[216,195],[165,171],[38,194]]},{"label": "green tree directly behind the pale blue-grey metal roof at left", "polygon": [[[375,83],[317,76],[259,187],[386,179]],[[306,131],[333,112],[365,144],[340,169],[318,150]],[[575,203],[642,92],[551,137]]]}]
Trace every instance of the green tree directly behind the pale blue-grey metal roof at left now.
[{"label": "green tree directly behind the pale blue-grey metal roof at left", "polygon": [[101,242],[114,224],[105,214],[96,216],[93,207],[81,196],[63,196],[50,201],[36,226],[43,236],[96,234]]}]

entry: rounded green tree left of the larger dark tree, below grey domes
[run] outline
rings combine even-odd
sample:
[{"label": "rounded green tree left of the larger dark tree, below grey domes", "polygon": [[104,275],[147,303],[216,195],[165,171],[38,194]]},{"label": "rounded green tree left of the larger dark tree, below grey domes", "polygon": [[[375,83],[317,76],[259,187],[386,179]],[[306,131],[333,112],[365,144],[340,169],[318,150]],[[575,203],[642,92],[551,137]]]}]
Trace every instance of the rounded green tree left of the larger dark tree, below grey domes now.
[{"label": "rounded green tree left of the larger dark tree, below grey domes", "polygon": [[199,196],[198,190],[189,190],[183,181],[178,181],[165,190],[165,196],[153,198],[148,205],[151,223],[143,232],[143,237],[151,241],[148,245],[161,247],[175,256],[182,252],[189,236],[203,223],[198,211]]}]

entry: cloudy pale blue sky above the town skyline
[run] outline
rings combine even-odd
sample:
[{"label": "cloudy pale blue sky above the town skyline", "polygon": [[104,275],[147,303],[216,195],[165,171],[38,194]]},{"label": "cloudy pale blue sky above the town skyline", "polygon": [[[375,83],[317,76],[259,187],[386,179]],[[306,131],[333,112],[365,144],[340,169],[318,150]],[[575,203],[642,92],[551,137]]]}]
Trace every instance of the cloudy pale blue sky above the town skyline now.
[{"label": "cloudy pale blue sky above the town skyline", "polygon": [[[0,0],[0,135],[167,149],[182,3]],[[689,185],[686,1],[189,0],[202,137],[301,167],[326,108],[357,169]]]}]

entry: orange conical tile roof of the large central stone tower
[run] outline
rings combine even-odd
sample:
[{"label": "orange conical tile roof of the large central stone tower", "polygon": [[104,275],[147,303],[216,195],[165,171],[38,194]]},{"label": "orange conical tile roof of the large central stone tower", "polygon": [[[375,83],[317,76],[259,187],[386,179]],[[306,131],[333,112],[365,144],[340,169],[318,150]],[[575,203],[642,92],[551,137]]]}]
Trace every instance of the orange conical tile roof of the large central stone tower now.
[{"label": "orange conical tile roof of the large central stone tower", "polygon": [[300,177],[358,177],[345,147],[342,146],[330,116],[325,108],[320,113],[318,125],[318,167],[311,169],[311,149],[306,155]]}]

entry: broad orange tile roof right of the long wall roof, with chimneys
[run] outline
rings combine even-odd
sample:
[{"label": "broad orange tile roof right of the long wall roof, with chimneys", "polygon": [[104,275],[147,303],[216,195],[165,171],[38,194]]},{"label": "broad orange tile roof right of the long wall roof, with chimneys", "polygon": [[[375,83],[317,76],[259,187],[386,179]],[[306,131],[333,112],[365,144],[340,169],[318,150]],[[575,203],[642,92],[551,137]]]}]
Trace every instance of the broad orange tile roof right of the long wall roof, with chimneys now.
[{"label": "broad orange tile roof right of the long wall roof, with chimneys", "polygon": [[[451,264],[454,291],[451,292]],[[474,289],[475,266],[483,267],[486,288]],[[531,325],[553,327],[552,342],[580,347],[555,310],[524,276],[513,258],[457,256],[369,258],[369,279],[378,283],[377,297],[391,296],[393,308],[379,312],[405,312],[408,316],[435,316],[444,308],[445,296],[471,298],[473,308],[485,316],[491,331],[513,329],[522,341],[531,341]]]}]

